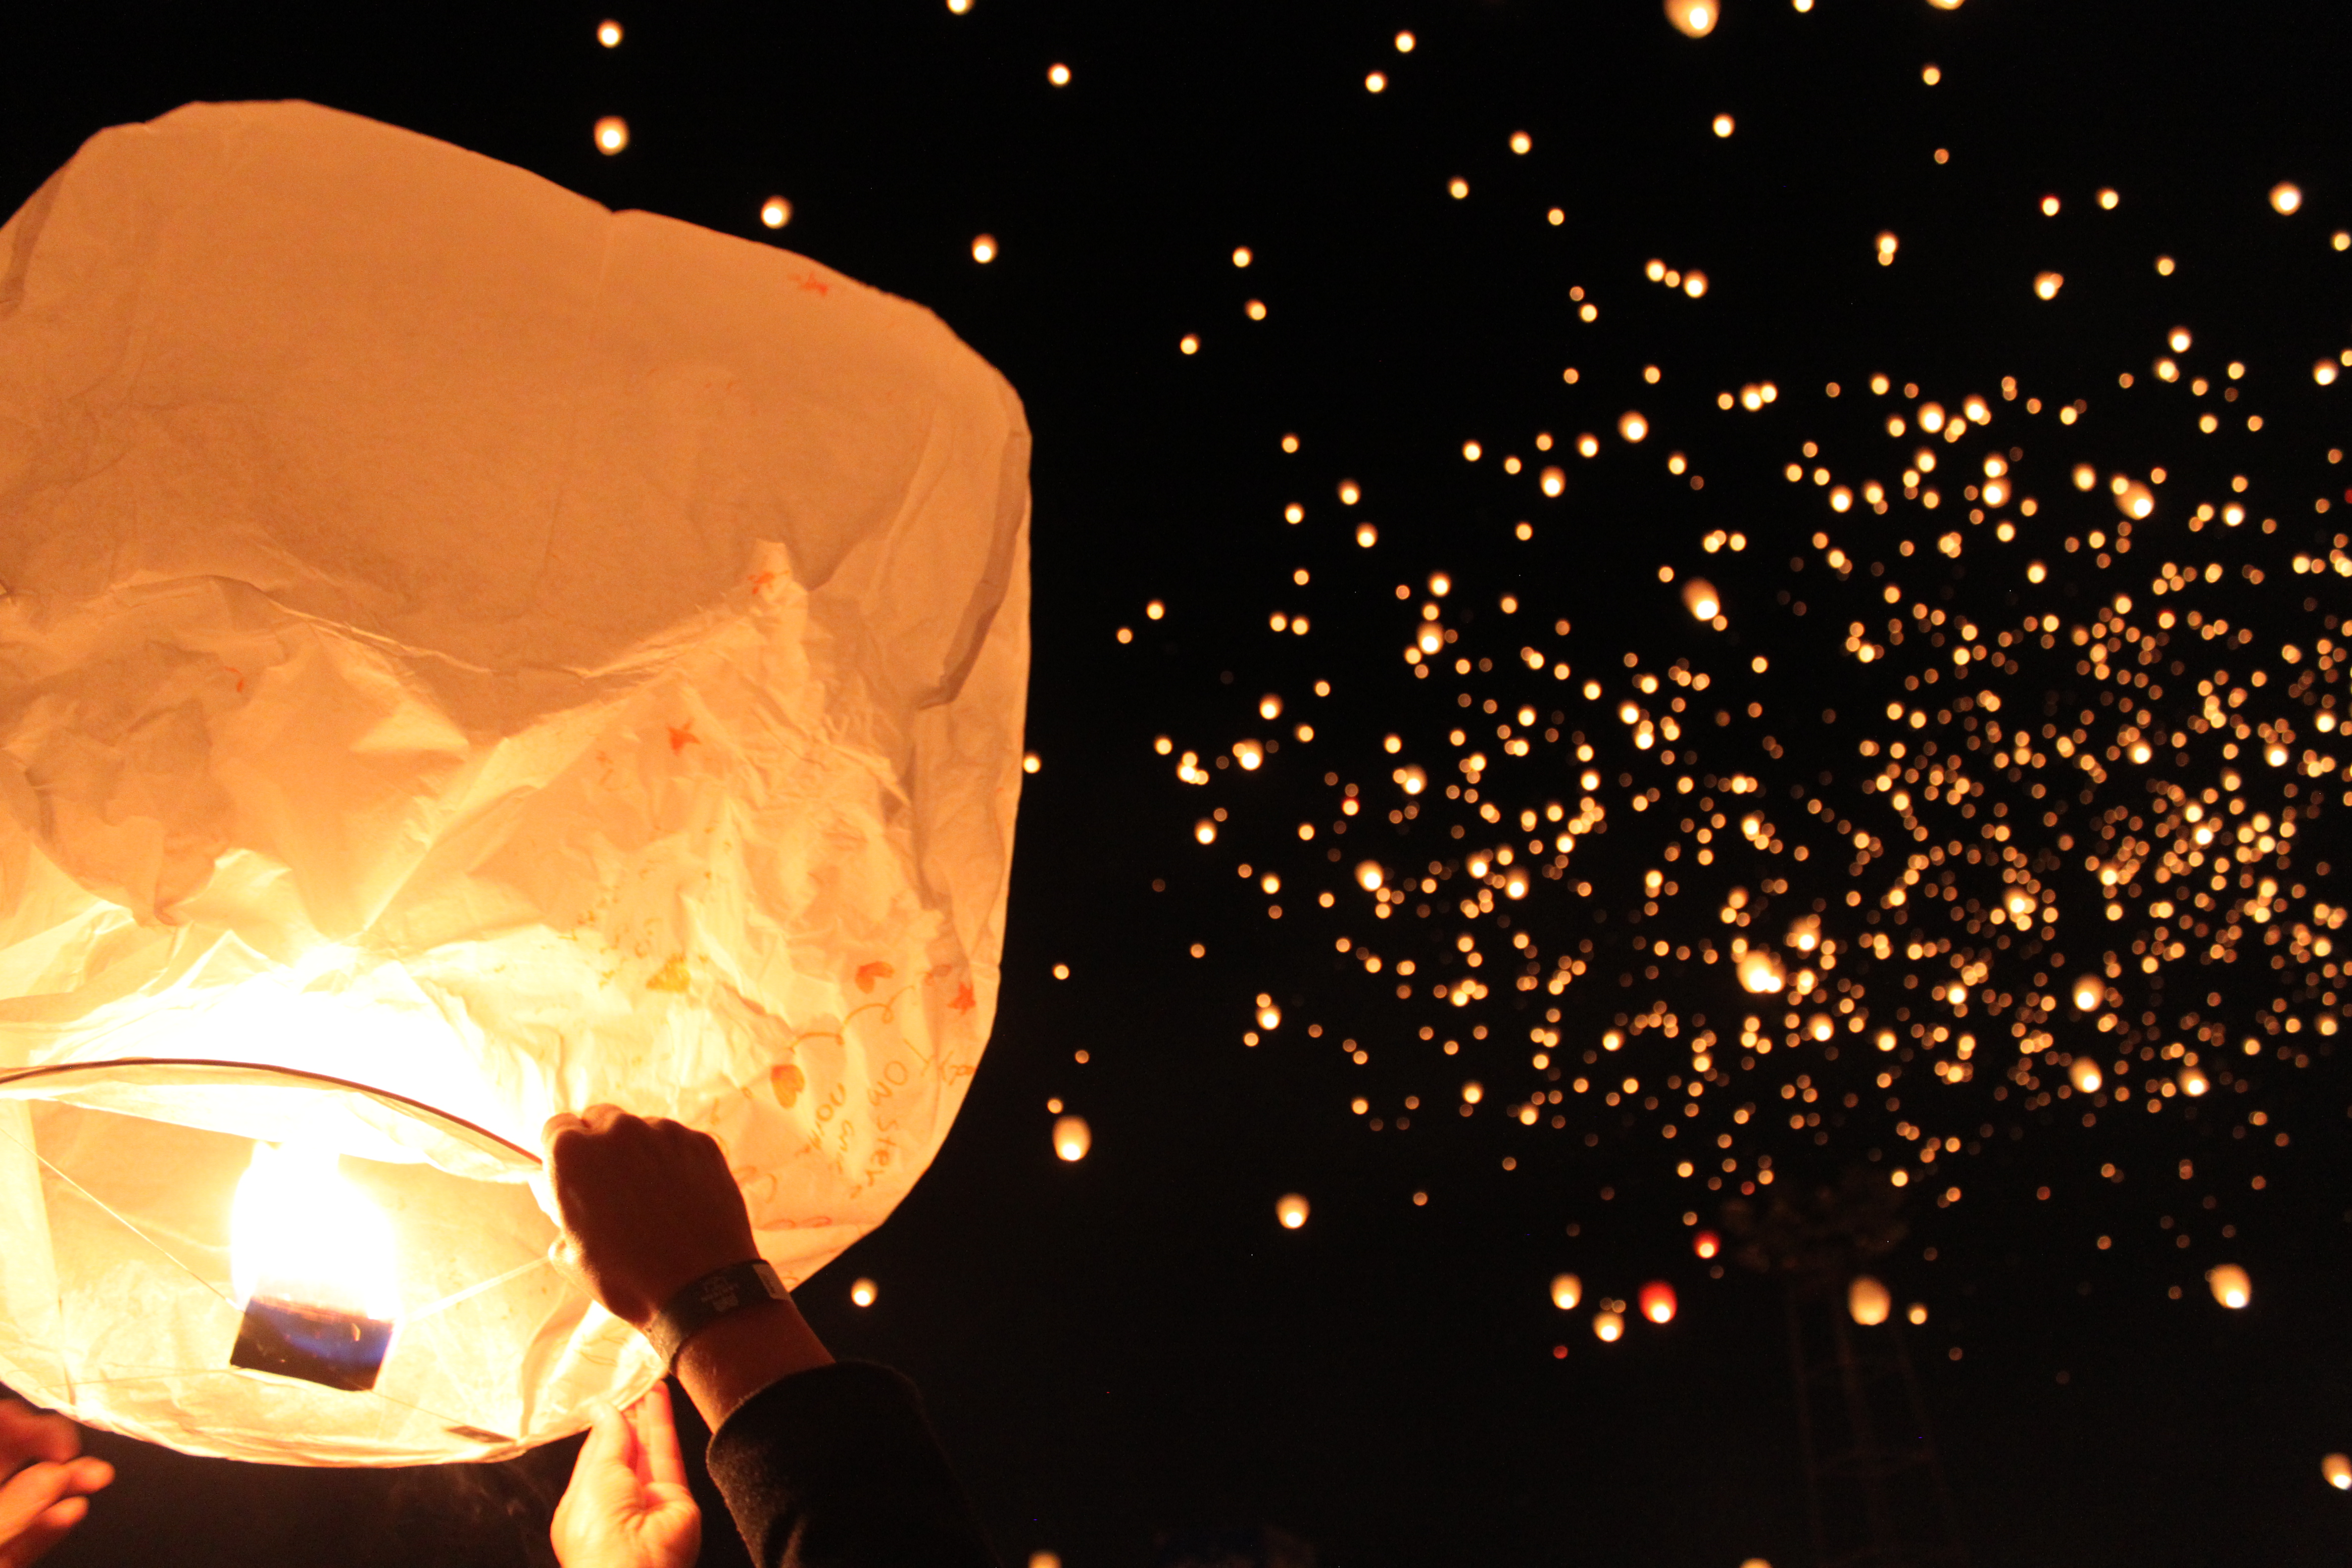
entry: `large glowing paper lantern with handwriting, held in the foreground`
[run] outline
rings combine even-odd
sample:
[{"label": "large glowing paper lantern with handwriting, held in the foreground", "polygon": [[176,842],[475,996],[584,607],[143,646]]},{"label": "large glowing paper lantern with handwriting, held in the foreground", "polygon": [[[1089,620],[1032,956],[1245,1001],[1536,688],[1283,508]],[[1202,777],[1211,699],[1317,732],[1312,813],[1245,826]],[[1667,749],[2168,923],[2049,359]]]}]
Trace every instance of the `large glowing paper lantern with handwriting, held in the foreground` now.
[{"label": "large glowing paper lantern with handwriting, held in the foreground", "polygon": [[[988,1039],[1025,677],[1028,428],[929,313],[306,103],[94,136],[0,228],[0,1380],[247,1460],[576,1432],[659,1375],[548,1262],[597,1100],[807,1279]],[[261,1192],[233,1267],[280,1166],[390,1237],[365,1392],[230,1366],[360,1234]]]}]

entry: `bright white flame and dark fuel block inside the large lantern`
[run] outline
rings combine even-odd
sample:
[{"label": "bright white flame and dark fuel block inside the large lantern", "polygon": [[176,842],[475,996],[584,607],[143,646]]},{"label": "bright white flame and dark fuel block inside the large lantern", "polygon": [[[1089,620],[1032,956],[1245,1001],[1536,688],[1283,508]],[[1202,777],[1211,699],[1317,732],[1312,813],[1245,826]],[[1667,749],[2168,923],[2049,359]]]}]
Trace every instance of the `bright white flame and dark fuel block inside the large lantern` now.
[{"label": "bright white flame and dark fuel block inside the large lantern", "polygon": [[254,1145],[228,1211],[228,1260],[245,1302],[230,1366],[376,1387],[400,1305],[393,1227],[332,1150]]}]

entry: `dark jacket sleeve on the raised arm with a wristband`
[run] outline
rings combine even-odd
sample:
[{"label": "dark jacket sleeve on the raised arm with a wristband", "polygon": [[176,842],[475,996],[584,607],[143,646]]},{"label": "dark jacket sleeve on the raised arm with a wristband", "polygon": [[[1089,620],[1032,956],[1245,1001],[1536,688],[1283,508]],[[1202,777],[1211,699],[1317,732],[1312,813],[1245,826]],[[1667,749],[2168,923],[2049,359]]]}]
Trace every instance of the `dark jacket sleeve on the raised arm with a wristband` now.
[{"label": "dark jacket sleeve on the raised arm with a wristband", "polygon": [[997,1568],[915,1385],[887,1366],[771,1382],[708,1465],[760,1568]]}]

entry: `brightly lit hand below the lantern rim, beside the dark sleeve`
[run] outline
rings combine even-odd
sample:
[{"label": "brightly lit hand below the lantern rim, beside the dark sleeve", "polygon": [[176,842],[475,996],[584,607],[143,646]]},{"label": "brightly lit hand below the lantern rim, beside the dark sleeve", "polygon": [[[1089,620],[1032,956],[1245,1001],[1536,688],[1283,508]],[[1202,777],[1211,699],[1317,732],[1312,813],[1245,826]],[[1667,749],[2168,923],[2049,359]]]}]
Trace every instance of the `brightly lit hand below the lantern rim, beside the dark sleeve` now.
[{"label": "brightly lit hand below the lantern rim, beside the dark sleeve", "polygon": [[703,1514],[687,1490],[668,1385],[628,1415],[597,1410],[548,1540],[562,1568],[691,1568]]}]

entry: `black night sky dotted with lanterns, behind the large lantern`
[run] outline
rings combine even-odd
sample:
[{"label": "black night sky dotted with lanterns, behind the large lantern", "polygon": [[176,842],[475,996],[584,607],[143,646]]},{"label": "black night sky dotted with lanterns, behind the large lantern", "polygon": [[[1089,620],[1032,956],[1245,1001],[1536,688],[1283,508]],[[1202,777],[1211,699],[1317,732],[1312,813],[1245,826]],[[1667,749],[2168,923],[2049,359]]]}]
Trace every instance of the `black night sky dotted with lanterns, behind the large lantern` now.
[{"label": "black night sky dotted with lanterns, behind the large lantern", "polygon": [[[2173,0],[16,7],[0,207],[106,125],[313,99],[788,244],[1021,393],[995,1037],[800,1291],[1007,1563],[1809,1563],[1724,1204],[1849,1173],[1903,1175],[1856,1335],[1903,1335],[1966,1561],[2336,1563],[2345,59],[2326,7]],[[59,1563],[527,1561],[572,1446],[94,1448]]]}]

